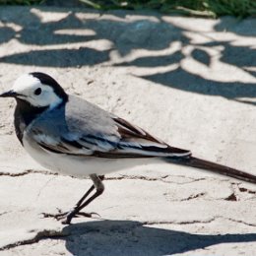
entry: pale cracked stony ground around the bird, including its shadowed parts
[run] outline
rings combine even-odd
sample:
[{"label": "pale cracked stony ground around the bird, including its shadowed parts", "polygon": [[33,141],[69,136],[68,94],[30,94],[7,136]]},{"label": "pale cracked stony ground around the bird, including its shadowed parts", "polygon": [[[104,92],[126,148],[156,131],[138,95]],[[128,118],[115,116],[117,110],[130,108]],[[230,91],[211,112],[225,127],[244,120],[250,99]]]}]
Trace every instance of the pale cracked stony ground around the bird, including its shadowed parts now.
[{"label": "pale cracked stony ground around the bird, including its shadowed parts", "polygon": [[[1,7],[0,89],[52,75],[195,156],[256,174],[256,20]],[[171,164],[106,177],[63,225],[89,179],[54,175],[16,139],[14,101],[0,101],[0,255],[255,255],[256,186]]]}]

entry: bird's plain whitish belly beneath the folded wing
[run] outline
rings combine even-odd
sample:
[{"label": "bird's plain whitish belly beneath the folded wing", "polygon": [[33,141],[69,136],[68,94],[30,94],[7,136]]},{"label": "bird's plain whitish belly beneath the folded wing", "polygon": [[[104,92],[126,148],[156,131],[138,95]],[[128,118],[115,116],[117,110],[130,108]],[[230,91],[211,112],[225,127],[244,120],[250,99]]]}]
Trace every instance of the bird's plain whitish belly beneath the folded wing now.
[{"label": "bird's plain whitish belly beneath the folded wing", "polygon": [[103,159],[55,154],[40,148],[26,134],[24,134],[23,143],[25,150],[30,154],[32,159],[43,167],[54,172],[57,171],[75,177],[85,177],[93,173],[103,175],[136,165],[158,161],[157,159]]}]

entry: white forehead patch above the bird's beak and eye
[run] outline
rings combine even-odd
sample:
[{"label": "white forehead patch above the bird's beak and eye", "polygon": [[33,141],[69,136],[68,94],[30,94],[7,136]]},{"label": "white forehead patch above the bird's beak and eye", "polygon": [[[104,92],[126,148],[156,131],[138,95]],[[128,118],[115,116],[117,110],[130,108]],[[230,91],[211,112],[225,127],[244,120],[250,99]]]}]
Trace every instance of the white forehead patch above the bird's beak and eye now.
[{"label": "white forehead patch above the bird's beak and eye", "polygon": [[14,82],[12,90],[15,92],[23,92],[38,86],[41,86],[39,79],[33,77],[31,74],[25,74]]}]

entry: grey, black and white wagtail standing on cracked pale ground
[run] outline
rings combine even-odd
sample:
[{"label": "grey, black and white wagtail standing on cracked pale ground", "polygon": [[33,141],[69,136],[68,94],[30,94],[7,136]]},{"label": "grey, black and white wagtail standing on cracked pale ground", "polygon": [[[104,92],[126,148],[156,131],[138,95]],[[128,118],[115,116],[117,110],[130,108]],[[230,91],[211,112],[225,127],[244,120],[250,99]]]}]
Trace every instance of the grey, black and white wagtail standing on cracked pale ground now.
[{"label": "grey, black and white wagtail standing on cracked pale ground", "polygon": [[167,160],[256,183],[252,174],[194,158],[190,151],[170,147],[138,126],[67,95],[46,74],[23,75],[0,96],[16,99],[16,135],[32,159],[50,170],[93,180],[73,210],[54,215],[64,224],[74,217],[91,217],[81,210],[102,194],[103,175],[131,165]]}]

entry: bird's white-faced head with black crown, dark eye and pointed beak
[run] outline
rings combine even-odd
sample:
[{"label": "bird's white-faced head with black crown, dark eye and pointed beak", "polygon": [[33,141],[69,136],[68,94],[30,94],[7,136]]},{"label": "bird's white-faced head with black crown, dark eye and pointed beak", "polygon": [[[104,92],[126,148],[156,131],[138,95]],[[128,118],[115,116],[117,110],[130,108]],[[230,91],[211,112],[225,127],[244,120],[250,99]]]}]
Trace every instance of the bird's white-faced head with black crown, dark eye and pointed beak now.
[{"label": "bird's white-faced head with black crown, dark eye and pointed beak", "polygon": [[68,100],[67,94],[53,78],[39,72],[22,75],[15,81],[10,91],[0,96],[15,97],[30,103],[33,107],[49,108]]}]

